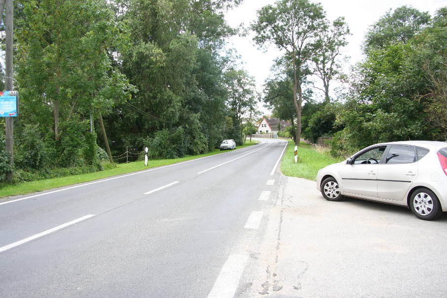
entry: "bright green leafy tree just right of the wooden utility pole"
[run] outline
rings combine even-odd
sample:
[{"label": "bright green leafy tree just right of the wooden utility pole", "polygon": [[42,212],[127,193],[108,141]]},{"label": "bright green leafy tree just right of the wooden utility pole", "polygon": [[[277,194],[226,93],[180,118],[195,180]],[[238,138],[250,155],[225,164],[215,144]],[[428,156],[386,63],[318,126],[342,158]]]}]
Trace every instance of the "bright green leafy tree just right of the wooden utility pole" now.
[{"label": "bright green leafy tree just right of the wooden utility pole", "polygon": [[112,67],[111,57],[126,37],[105,0],[30,0],[23,14],[17,69],[24,113],[45,123],[49,108],[56,141],[61,122],[128,98],[132,86]]}]

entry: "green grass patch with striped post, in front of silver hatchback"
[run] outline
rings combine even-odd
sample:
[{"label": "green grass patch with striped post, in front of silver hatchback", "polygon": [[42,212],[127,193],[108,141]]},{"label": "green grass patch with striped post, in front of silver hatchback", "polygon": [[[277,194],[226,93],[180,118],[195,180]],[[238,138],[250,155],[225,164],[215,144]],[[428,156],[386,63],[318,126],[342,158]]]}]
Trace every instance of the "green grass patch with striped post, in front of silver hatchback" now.
[{"label": "green grass patch with striped post, in front of silver hatchback", "polygon": [[286,176],[315,180],[318,170],[342,159],[331,157],[329,152],[319,152],[312,146],[301,143],[298,147],[298,163],[294,160],[295,143],[289,141],[281,162],[281,172]]}]

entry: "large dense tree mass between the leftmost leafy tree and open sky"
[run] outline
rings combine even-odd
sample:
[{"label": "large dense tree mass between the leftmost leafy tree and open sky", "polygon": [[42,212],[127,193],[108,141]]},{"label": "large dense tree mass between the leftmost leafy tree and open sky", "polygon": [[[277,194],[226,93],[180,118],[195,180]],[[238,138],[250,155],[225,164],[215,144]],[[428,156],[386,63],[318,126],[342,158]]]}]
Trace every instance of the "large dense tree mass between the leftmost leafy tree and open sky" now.
[{"label": "large dense tree mass between the leftmost leafy tree and open sky", "polygon": [[140,92],[119,105],[122,112],[105,119],[114,127],[115,148],[125,143],[140,147],[158,130],[181,126],[187,139],[196,125],[213,148],[222,140],[226,116],[220,52],[223,38],[236,32],[223,12],[240,1],[117,2],[117,17],[132,28],[130,48],[121,53],[122,69]]}]

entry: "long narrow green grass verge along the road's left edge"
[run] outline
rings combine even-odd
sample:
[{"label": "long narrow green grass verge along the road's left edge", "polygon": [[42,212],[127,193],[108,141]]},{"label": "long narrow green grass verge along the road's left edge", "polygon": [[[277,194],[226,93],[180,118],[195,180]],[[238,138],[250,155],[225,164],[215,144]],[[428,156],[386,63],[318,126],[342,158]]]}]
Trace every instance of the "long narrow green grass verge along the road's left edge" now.
[{"label": "long narrow green grass verge along the road's left edge", "polygon": [[[245,142],[244,145],[238,146],[237,149],[241,149],[244,147],[252,146],[259,143],[258,141],[252,141],[248,139],[247,142]],[[191,156],[185,156],[182,158],[175,158],[175,159],[156,159],[156,160],[149,160],[148,166],[146,167],[144,164],[144,161],[135,161],[135,162],[129,162],[129,163],[120,163],[117,164],[115,168],[104,170],[101,172],[94,172],[89,174],[83,174],[83,175],[75,175],[75,176],[67,176],[67,177],[60,177],[60,178],[53,178],[53,179],[45,179],[45,180],[38,180],[38,181],[31,181],[31,182],[22,182],[15,185],[8,185],[3,186],[0,188],[0,198],[2,197],[8,197],[12,195],[19,195],[19,194],[28,194],[36,191],[43,191],[51,188],[56,187],[62,187],[62,186],[69,186],[74,185],[78,183],[84,183],[89,182],[93,180],[108,178],[116,175],[136,172],[136,171],[142,171],[147,170],[150,168],[155,168],[159,166],[165,166],[173,163],[178,163],[182,161],[187,161],[191,159],[196,159],[200,157],[210,156],[219,154],[221,151],[219,149],[215,149],[214,151],[200,154],[200,155],[191,155]]]}]

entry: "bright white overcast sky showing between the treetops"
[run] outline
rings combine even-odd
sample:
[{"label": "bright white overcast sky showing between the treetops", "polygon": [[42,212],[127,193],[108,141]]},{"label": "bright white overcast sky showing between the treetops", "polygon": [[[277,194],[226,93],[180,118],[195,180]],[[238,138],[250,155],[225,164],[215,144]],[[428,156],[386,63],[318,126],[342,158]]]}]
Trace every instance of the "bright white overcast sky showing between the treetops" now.
[{"label": "bright white overcast sky showing between the treetops", "polygon": [[[257,10],[267,4],[274,4],[274,0],[244,0],[243,3],[226,13],[226,21],[230,26],[237,27],[244,23],[246,27],[257,17]],[[376,22],[390,8],[395,9],[402,5],[412,6],[420,11],[428,11],[431,15],[434,12],[447,6],[447,0],[320,0],[330,21],[343,16],[352,36],[348,38],[349,44],[344,51],[350,56],[349,63],[355,64],[362,59],[361,44],[368,28]],[[241,56],[244,69],[254,76],[258,86],[258,91],[262,91],[262,84],[270,74],[270,67],[273,60],[281,53],[270,45],[267,52],[259,50],[252,41],[253,35],[248,37],[228,38],[228,47],[233,47]],[[349,67],[346,67],[349,69]],[[263,109],[264,112],[268,113]]]}]

